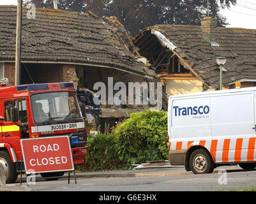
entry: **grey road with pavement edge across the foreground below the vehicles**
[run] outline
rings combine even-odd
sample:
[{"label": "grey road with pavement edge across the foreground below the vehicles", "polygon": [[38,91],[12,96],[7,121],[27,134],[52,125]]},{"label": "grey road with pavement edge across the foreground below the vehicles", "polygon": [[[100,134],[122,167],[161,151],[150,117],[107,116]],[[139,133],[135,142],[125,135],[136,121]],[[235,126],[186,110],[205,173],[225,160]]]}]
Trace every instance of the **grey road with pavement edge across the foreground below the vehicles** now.
[{"label": "grey road with pavement edge across the foreground below the vehicles", "polygon": [[[67,177],[56,181],[46,181],[36,177],[29,187],[33,191],[239,191],[244,187],[256,186],[256,170],[245,171],[238,166],[222,166],[214,173],[193,175],[184,168],[162,168],[154,170],[113,171],[116,174],[97,177],[77,173],[77,184],[73,175],[68,184]],[[133,173],[129,175],[129,173]],[[117,174],[119,173],[119,174]],[[127,174],[125,174],[127,173]],[[109,174],[109,175],[107,175]],[[24,178],[25,179],[25,178]],[[19,179],[17,180],[19,182]],[[19,185],[11,184],[7,186]],[[22,183],[26,186],[26,182]]]}]

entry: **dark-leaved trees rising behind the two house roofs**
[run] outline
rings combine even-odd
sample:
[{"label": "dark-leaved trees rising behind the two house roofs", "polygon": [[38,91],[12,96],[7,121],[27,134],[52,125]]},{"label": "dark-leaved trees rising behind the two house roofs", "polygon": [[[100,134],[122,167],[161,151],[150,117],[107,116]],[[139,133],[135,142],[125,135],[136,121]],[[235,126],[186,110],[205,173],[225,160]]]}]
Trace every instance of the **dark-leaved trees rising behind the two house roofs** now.
[{"label": "dark-leaved trees rising behind the two house roofs", "polygon": [[[227,18],[220,15],[222,8],[230,8],[236,0],[208,0],[209,15],[216,17],[218,26],[227,25]],[[207,15],[207,0],[59,0],[62,10],[93,11],[99,17],[116,15],[133,35],[140,29],[155,24],[200,25],[200,18]],[[27,0],[36,7],[53,8],[52,0]]]}]

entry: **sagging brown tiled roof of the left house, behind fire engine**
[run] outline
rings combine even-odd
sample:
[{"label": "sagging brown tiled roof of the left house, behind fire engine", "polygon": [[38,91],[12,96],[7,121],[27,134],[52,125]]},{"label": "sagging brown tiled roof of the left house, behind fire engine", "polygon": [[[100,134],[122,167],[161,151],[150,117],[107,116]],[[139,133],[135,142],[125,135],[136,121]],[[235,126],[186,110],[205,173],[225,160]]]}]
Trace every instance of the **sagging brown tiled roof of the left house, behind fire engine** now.
[{"label": "sagging brown tiled roof of the left house, behind fire engine", "polygon": [[[93,13],[36,8],[31,18],[29,12],[23,8],[22,61],[80,63],[154,75]],[[15,61],[16,16],[17,6],[0,6],[0,61]]]}]

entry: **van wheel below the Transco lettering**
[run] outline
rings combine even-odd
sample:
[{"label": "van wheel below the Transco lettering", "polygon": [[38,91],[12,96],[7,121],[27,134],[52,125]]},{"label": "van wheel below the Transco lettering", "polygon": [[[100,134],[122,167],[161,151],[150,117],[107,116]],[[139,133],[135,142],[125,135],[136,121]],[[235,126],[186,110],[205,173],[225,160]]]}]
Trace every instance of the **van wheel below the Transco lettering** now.
[{"label": "van wheel below the Transco lettering", "polygon": [[212,173],[214,163],[209,154],[204,149],[197,149],[190,156],[190,169],[195,174]]}]

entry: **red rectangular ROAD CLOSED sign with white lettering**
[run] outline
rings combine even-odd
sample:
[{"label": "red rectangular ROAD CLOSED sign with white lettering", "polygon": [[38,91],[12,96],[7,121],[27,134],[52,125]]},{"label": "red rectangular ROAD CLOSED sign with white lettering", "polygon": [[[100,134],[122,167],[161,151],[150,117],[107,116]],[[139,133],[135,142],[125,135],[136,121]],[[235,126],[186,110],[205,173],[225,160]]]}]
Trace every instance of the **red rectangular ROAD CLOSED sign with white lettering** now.
[{"label": "red rectangular ROAD CLOSED sign with white lettering", "polygon": [[74,170],[68,136],[22,139],[20,143],[26,173]]}]

